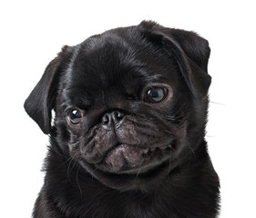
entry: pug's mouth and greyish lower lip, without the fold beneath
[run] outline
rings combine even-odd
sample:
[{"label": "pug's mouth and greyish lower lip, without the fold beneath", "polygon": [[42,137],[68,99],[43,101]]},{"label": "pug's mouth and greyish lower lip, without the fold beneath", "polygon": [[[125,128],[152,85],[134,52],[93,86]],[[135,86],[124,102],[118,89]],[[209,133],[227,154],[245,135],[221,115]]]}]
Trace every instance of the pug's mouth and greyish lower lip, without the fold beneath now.
[{"label": "pug's mouth and greyish lower lip, without the fold beneath", "polygon": [[[105,173],[148,173],[163,163],[169,163],[174,145],[174,140],[169,144],[150,148],[134,144],[116,144],[105,154],[102,154],[103,157],[100,162],[88,164]],[[86,162],[86,160],[84,161]]]}]

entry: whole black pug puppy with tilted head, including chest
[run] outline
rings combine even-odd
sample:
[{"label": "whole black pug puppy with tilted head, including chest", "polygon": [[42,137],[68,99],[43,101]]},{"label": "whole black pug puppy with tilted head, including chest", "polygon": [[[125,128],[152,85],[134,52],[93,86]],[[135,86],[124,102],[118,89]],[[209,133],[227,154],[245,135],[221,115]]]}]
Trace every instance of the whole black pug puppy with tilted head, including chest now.
[{"label": "whole black pug puppy with tilted head, including chest", "polygon": [[51,144],[34,217],[216,217],[209,56],[199,35],[146,21],[64,46],[25,103]]}]

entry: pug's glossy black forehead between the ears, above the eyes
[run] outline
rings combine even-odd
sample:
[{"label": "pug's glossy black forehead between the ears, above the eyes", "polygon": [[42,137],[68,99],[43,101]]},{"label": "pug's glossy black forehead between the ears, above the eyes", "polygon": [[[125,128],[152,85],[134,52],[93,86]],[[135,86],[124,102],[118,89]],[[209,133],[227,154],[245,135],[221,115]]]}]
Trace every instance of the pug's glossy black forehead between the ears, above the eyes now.
[{"label": "pug's glossy black forehead between the ears, above the eyes", "polygon": [[138,34],[96,35],[77,46],[66,88],[97,93],[115,87],[135,92],[147,84],[172,81],[171,62]]}]

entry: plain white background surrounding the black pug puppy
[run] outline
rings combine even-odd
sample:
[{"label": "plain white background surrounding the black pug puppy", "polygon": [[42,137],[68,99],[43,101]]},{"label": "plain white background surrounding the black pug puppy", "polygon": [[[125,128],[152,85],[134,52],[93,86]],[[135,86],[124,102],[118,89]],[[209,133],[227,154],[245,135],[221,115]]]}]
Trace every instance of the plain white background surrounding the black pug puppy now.
[{"label": "plain white background surrounding the black pug puppy", "polygon": [[23,104],[63,45],[143,19],[210,42],[207,141],[221,182],[221,218],[256,217],[253,1],[1,1],[0,217],[30,217],[43,183],[47,136]]}]

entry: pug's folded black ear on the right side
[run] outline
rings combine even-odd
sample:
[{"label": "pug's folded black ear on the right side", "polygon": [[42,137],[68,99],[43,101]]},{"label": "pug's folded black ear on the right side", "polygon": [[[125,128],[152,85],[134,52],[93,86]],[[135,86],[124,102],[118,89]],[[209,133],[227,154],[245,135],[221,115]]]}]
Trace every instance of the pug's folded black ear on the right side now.
[{"label": "pug's folded black ear on the right side", "polygon": [[200,99],[207,97],[211,82],[207,72],[208,41],[193,32],[166,28],[154,22],[144,21],[140,25],[151,42],[176,59],[191,92]]}]

